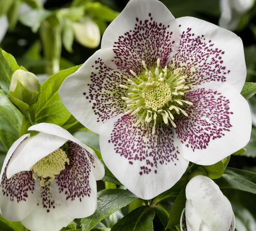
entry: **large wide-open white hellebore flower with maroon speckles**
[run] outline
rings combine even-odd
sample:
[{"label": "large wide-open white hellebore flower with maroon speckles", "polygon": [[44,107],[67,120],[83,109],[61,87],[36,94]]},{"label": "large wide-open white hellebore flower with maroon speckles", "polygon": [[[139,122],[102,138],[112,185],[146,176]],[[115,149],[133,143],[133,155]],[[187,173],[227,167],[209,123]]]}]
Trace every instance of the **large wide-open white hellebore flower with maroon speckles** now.
[{"label": "large wide-open white hellebore flower with maroon speckles", "polygon": [[100,134],[115,177],[150,199],[176,183],[189,161],[211,165],[247,144],[250,110],[239,94],[245,78],[234,33],[174,19],[156,0],[131,0],[59,95]]}]

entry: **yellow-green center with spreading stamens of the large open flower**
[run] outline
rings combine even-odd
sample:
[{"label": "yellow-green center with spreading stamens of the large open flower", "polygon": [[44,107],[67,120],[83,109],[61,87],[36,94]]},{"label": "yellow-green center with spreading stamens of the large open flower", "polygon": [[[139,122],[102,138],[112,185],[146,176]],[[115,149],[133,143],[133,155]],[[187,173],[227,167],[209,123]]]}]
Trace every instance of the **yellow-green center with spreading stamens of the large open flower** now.
[{"label": "yellow-green center with spreading stamens of the large open flower", "polygon": [[160,59],[157,59],[156,68],[147,68],[144,61],[142,66],[145,71],[137,76],[133,70],[130,70],[133,79],[128,79],[128,84],[120,84],[121,88],[129,90],[128,97],[122,97],[125,100],[128,110],[126,114],[138,114],[140,121],[150,123],[154,122],[152,134],[155,133],[156,122],[163,121],[165,124],[171,123],[176,128],[174,117],[180,112],[188,116],[182,109],[184,104],[192,106],[193,103],[183,100],[182,96],[189,86],[185,85],[187,76],[182,75],[182,69],[177,68],[174,71],[160,68]]}]

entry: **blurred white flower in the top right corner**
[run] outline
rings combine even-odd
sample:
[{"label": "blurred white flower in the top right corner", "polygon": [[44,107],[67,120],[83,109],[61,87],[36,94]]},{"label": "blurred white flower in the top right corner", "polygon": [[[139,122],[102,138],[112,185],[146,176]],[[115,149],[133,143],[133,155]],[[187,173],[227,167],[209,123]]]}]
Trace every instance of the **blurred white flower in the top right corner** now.
[{"label": "blurred white flower in the top right corner", "polygon": [[234,31],[240,17],[250,10],[255,0],[220,0],[221,17],[219,25]]}]

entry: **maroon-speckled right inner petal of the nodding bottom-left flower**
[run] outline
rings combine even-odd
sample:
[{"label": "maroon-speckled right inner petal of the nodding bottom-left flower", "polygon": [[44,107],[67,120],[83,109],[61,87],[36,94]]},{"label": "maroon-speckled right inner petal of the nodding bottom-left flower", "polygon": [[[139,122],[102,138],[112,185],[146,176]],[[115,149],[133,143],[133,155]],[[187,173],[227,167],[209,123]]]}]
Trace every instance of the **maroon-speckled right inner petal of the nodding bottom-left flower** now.
[{"label": "maroon-speckled right inner petal of the nodding bottom-left flower", "polygon": [[74,142],[69,143],[70,164],[51,183],[52,198],[72,218],[84,218],[95,212],[97,187],[91,154]]}]

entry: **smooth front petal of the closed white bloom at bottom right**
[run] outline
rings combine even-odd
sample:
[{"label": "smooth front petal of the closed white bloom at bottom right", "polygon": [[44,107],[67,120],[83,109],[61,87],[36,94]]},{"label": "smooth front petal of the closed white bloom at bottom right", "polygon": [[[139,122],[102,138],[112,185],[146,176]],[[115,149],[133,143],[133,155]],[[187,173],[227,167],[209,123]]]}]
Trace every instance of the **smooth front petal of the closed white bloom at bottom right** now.
[{"label": "smooth front petal of the closed white bloom at bottom right", "polygon": [[201,175],[192,178],[186,186],[186,198],[191,200],[210,230],[226,231],[230,228],[233,219],[230,201],[210,178]]}]

